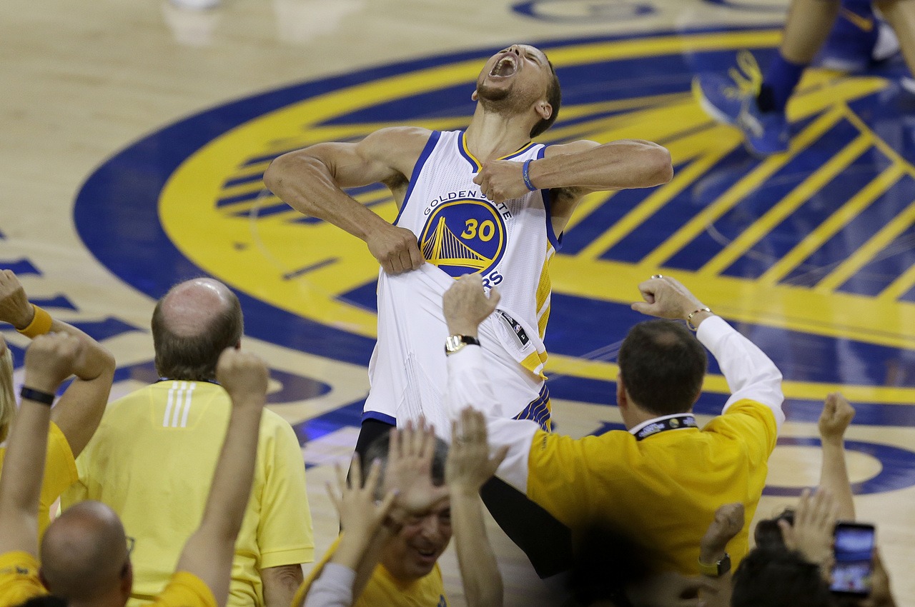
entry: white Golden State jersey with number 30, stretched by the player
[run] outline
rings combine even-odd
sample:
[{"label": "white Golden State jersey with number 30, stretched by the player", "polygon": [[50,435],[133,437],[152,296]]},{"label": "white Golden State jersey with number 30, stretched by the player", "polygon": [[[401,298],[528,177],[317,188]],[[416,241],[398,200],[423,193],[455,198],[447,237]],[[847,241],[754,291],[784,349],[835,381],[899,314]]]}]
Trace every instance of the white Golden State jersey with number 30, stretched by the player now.
[{"label": "white Golden State jersey with number 30, stretched by the player", "polygon": [[[505,159],[521,163],[543,155],[544,145],[529,144]],[[490,415],[549,428],[543,338],[548,266],[558,246],[549,193],[493,203],[473,183],[479,166],[461,131],[432,133],[416,161],[395,224],[413,230],[428,263],[396,276],[379,273],[378,343],[363,419],[403,424],[424,416],[447,438],[442,295],[455,278],[479,273],[484,286],[501,293],[499,310],[479,327],[496,392],[485,406]]]}]

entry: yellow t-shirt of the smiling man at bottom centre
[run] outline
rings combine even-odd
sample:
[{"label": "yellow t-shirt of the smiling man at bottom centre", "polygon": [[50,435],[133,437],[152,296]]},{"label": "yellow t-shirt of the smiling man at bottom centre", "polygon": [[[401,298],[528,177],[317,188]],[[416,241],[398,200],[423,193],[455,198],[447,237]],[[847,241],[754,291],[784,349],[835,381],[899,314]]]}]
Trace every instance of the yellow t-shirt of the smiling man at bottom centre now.
[{"label": "yellow t-shirt of the smiling man at bottom centre", "polygon": [[[312,582],[318,579],[324,565],[333,557],[339,541],[340,538],[334,540],[318,566],[311,570],[307,579],[299,586],[296,596],[292,600],[292,607],[301,607],[305,602],[308,589],[311,588]],[[371,572],[371,578],[365,585],[365,590],[353,603],[353,607],[447,607],[447,605],[445,582],[442,580],[442,570],[438,568],[438,563],[425,577],[408,582],[395,580],[384,565],[379,563]]]}]

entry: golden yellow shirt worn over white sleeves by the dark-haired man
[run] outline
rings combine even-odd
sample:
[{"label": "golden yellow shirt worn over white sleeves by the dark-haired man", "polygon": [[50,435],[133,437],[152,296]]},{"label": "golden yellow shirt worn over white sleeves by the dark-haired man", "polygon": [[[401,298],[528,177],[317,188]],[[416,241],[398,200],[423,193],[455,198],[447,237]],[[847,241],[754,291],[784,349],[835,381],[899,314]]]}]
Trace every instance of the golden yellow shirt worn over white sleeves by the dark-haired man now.
[{"label": "golden yellow shirt worn over white sleeves by the dark-haired man", "polygon": [[743,529],[727,545],[734,567],[748,551],[750,521],[775,448],[775,416],[738,400],[705,428],[662,431],[642,441],[627,431],[574,440],[537,431],[528,496],[573,529],[611,521],[664,570],[698,574],[699,540],[718,506],[741,502]]}]

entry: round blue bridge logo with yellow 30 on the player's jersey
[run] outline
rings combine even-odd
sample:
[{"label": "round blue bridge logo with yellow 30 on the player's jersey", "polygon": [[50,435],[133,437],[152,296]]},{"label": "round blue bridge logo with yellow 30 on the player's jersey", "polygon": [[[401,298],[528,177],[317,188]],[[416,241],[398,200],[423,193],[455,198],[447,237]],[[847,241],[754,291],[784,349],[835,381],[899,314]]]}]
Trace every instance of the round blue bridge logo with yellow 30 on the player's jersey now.
[{"label": "round blue bridge logo with yellow 30 on the player's jersey", "polygon": [[460,198],[437,207],[419,239],[426,261],[450,276],[485,274],[501,261],[505,224],[483,200]]}]

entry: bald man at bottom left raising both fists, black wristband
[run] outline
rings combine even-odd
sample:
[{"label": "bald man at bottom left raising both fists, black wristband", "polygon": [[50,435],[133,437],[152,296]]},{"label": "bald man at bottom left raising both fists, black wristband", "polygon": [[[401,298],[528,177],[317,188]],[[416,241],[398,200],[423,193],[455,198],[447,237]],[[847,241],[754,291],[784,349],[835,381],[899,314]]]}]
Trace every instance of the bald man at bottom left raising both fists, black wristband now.
[{"label": "bald man at bottom left raising both fists, black wristband", "polygon": [[[38,556],[38,499],[50,404],[82,356],[73,335],[39,335],[26,354],[22,407],[10,433],[0,478],[0,607],[48,592],[73,607],[123,607],[134,581],[133,538],[109,506],[82,502],[54,521]],[[227,348],[217,368],[231,399],[225,442],[211,478],[204,516],[184,542],[178,566],[154,606],[222,607],[229,594],[235,538],[251,493],[267,369]],[[48,603],[50,604],[50,603]]]}]

